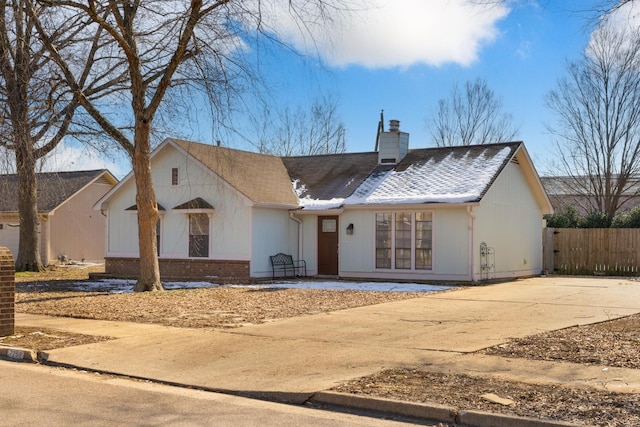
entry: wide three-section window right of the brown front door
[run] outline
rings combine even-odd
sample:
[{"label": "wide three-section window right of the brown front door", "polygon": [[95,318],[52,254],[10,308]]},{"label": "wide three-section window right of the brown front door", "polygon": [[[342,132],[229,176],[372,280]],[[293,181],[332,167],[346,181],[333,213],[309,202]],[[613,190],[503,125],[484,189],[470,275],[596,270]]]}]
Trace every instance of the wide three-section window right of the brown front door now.
[{"label": "wide three-section window right of the brown front door", "polygon": [[431,270],[432,236],[431,212],[376,213],[376,268]]}]

